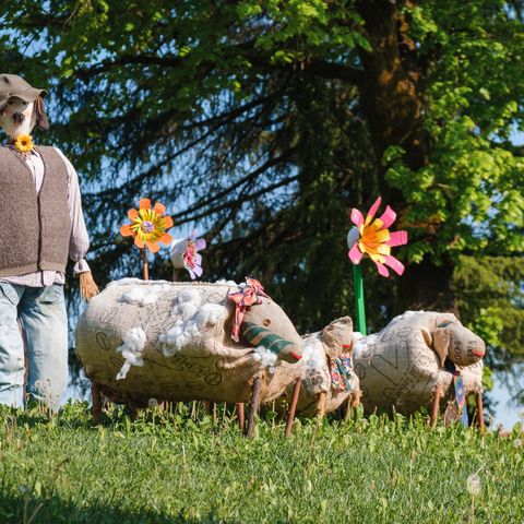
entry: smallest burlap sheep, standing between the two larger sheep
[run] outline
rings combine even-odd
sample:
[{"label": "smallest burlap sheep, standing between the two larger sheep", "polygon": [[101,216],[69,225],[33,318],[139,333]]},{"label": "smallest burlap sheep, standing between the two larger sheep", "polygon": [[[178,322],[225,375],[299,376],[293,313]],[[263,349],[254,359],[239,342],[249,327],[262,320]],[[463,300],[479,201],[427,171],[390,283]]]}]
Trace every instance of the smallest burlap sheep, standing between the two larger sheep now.
[{"label": "smallest burlap sheep, standing between the two larger sheep", "polygon": [[[315,416],[321,392],[325,393],[325,413],[334,412],[359,390],[358,377],[350,370],[347,371],[348,383],[345,388],[333,383],[332,367],[341,356],[352,359],[352,345],[353,322],[349,317],[337,319],[322,331],[303,336],[302,359],[297,364],[302,378],[297,413],[307,417]],[[293,385],[289,385],[282,400],[288,401],[291,392]]]}]

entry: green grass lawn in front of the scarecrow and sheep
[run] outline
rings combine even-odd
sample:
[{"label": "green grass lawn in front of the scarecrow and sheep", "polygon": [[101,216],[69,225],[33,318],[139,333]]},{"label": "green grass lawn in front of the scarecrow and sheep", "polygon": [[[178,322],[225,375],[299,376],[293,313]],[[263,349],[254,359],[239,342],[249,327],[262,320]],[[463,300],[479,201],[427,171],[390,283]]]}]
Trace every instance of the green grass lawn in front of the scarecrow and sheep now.
[{"label": "green grass lawn in front of the scarecrow and sheep", "polygon": [[371,416],[301,420],[285,439],[270,413],[247,440],[222,414],[214,426],[179,409],[115,408],[94,426],[82,403],[51,417],[2,408],[0,523],[524,521],[516,427],[481,438]]}]

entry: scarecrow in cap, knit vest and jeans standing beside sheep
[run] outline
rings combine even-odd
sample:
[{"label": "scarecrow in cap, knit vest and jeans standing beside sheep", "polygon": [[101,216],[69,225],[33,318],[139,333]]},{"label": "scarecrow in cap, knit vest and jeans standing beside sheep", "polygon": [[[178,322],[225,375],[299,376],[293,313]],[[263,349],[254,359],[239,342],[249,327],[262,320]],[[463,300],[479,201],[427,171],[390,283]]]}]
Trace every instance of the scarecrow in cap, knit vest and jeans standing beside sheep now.
[{"label": "scarecrow in cap, knit vest and jeans standing beside sheep", "polygon": [[68,386],[68,255],[84,298],[97,288],[83,259],[90,242],[76,171],[58,148],[31,136],[35,124],[48,129],[45,94],[0,74],[8,135],[0,147],[0,404],[35,400],[57,409]]}]

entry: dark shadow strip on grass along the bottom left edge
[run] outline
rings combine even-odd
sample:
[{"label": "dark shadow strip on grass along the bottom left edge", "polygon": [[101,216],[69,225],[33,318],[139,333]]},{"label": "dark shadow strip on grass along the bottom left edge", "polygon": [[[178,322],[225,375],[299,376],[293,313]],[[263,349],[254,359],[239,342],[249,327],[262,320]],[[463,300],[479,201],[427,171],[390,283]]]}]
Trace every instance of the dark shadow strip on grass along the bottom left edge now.
[{"label": "dark shadow strip on grass along the bottom left edge", "polygon": [[[189,508],[188,508],[189,510]],[[103,504],[87,505],[85,508],[73,505],[51,497],[47,500],[38,500],[34,497],[5,497],[0,493],[0,522],[2,524],[213,524],[223,523],[224,520],[209,511],[205,516],[199,519],[179,515],[166,515],[138,508],[135,511],[111,508]]]}]

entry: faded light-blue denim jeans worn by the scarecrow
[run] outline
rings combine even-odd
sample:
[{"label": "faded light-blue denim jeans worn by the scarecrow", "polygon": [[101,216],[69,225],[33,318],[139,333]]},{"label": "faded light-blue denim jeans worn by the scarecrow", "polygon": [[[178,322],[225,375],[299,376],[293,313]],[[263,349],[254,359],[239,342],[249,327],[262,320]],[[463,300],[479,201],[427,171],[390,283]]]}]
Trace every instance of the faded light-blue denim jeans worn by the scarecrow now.
[{"label": "faded light-blue denim jeans worn by the scarecrow", "polygon": [[24,405],[24,340],[27,396],[58,409],[69,378],[62,285],[27,287],[0,282],[0,404]]}]

